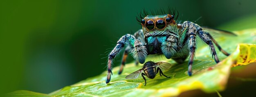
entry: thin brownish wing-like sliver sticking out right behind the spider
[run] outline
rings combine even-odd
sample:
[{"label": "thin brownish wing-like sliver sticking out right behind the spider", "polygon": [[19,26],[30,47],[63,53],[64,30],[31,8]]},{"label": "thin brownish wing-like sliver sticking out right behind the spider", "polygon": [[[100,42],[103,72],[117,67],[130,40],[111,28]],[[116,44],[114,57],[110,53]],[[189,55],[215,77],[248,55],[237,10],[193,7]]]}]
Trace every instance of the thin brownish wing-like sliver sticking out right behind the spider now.
[{"label": "thin brownish wing-like sliver sticking out right behind the spider", "polygon": [[236,36],[236,34],[234,34],[233,32],[229,32],[229,31],[225,31],[225,30],[220,30],[220,29],[216,29],[216,28],[210,28],[207,26],[203,26],[202,29],[206,32],[212,32],[212,33],[218,33],[218,34],[227,34],[227,35],[232,35],[232,36]]}]

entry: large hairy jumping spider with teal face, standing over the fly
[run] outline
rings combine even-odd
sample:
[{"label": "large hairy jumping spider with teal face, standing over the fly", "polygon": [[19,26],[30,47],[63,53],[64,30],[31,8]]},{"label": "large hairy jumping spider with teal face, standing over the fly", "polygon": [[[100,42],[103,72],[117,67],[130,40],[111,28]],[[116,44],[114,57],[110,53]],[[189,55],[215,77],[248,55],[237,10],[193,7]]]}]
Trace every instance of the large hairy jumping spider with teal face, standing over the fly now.
[{"label": "large hairy jumping spider with teal face, standing over the fly", "polygon": [[[112,60],[125,46],[126,49],[119,74],[123,71],[127,55],[131,53],[133,58],[141,64],[145,62],[146,56],[149,54],[164,54],[167,59],[172,58],[177,63],[182,63],[189,56],[188,74],[191,76],[196,49],[196,36],[199,36],[210,46],[212,56],[216,63],[219,62],[219,59],[213,43],[222,53],[227,56],[229,55],[222,50],[211,35],[204,32],[202,27],[198,24],[189,21],[182,24],[176,24],[176,19],[177,17],[172,14],[146,15],[141,17],[139,23],[141,24],[142,29],[135,32],[134,35],[126,34],[121,37],[119,41],[117,41],[115,48],[110,52],[108,56],[108,75],[106,83],[109,83],[111,79]],[[223,30],[218,31],[227,32]]]}]

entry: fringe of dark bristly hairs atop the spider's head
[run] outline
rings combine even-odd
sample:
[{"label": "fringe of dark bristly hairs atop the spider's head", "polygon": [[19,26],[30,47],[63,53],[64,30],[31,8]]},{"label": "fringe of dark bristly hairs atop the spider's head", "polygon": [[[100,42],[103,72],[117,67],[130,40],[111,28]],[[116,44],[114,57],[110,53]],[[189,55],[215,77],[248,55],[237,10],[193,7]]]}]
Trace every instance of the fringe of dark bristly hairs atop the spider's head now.
[{"label": "fringe of dark bristly hairs atop the spider's head", "polygon": [[141,24],[141,20],[144,19],[144,17],[146,17],[148,15],[166,15],[166,14],[173,15],[176,23],[179,22],[179,20],[178,20],[179,12],[176,9],[171,9],[170,7],[168,7],[167,10],[164,10],[163,8],[161,8],[159,10],[155,10],[155,11],[150,10],[150,13],[148,13],[145,9],[143,9],[143,11],[138,13],[136,20],[137,20],[138,24]]}]

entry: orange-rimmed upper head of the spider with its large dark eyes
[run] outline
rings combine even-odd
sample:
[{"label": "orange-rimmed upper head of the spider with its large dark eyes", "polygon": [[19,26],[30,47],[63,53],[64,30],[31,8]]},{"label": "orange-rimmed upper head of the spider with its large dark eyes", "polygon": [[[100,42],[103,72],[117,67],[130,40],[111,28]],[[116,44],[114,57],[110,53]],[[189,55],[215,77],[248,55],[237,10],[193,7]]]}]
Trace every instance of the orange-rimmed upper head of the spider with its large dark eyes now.
[{"label": "orange-rimmed upper head of the spider with its large dark eyes", "polygon": [[168,35],[169,32],[177,31],[174,16],[170,14],[148,15],[140,23],[145,37]]}]

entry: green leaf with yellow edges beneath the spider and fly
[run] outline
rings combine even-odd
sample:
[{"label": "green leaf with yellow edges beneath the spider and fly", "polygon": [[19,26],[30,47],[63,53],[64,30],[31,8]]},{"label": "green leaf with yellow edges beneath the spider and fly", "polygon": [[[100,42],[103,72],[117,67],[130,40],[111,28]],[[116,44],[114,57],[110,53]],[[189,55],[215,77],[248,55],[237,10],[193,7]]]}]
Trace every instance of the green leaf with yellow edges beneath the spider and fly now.
[{"label": "green leaf with yellow edges beneath the spider and fly", "polygon": [[[126,75],[138,70],[142,65],[135,66],[129,63],[125,66],[121,75],[117,74],[119,67],[113,69],[112,80],[106,84],[106,72],[104,74],[88,78],[71,86],[52,92],[48,95],[34,93],[29,91],[15,91],[9,95],[17,96],[52,96],[52,97],[74,97],[74,96],[177,96],[184,91],[201,89],[204,92],[212,93],[223,91],[229,78],[231,67],[247,65],[256,62],[256,29],[249,29],[235,32],[238,36],[213,35],[216,41],[227,52],[232,52],[230,56],[225,56],[218,52],[220,63],[216,65],[211,58],[208,45],[203,42],[197,42],[196,57],[193,63],[193,75],[187,75],[188,61],[183,64],[177,64],[173,60],[166,58],[151,57],[148,60],[157,60],[157,62],[168,62],[175,66],[163,71],[165,75],[171,78],[157,75],[154,79],[146,78],[147,85],[144,86],[144,80],[139,77],[135,80],[125,79]],[[197,39],[200,41],[200,39]],[[118,60],[118,59],[116,59]],[[116,64],[117,65],[117,64]]]}]

